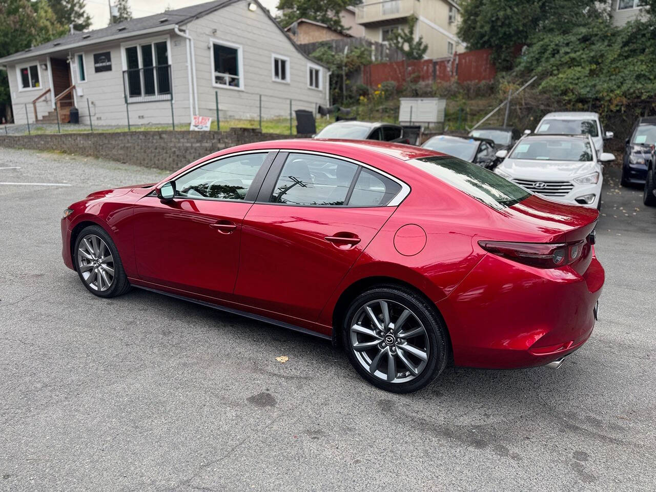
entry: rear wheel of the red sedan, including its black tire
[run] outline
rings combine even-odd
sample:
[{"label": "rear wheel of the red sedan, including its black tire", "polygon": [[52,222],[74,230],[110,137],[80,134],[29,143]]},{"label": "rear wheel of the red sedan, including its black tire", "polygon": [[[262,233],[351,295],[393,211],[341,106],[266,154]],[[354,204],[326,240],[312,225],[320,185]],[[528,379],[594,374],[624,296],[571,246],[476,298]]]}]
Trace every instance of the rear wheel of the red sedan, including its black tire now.
[{"label": "rear wheel of the red sedan, including its black tire", "polygon": [[[402,322],[403,325],[401,325],[400,331],[392,330],[394,332],[392,333],[394,344],[388,341],[387,335],[376,329],[376,327],[380,328],[381,325],[384,325],[384,323],[380,323],[383,319],[382,310],[377,316],[380,323],[377,325],[374,325],[369,316],[363,314],[366,312],[366,306],[376,306],[376,303],[380,303],[381,300],[388,306],[388,319],[390,320],[396,319],[398,321],[400,319],[398,314],[404,312],[404,310],[409,310],[414,315],[405,317],[406,321]],[[378,335],[361,335],[360,332],[352,332],[354,325],[361,326],[366,323],[369,323],[366,329],[373,329]],[[392,325],[393,323],[390,323],[388,327]],[[409,335],[411,332],[422,328],[421,335],[415,337]],[[389,331],[387,333],[390,334]],[[402,338],[403,333],[407,333],[409,338]],[[401,335],[401,337],[398,337],[398,335]],[[409,393],[423,388],[440,375],[449,358],[447,329],[434,306],[415,291],[396,285],[380,285],[358,295],[351,302],[346,311],[346,316],[342,320],[342,339],[344,340],[344,348],[346,348],[348,358],[356,371],[374,386],[394,393]],[[376,343],[376,345],[366,350],[359,348],[356,351],[354,343],[360,347],[372,343]],[[418,345],[419,348],[426,349],[423,352],[426,360],[416,358],[413,352],[406,352],[407,349],[403,348],[405,346],[415,350]],[[384,354],[381,354],[381,352],[384,352]],[[388,365],[390,357],[395,358],[395,365]],[[407,365],[404,359],[411,364]],[[371,367],[377,360],[379,364],[373,368],[374,373],[372,373]],[[366,367],[367,364],[369,369]],[[382,369],[380,369],[381,366]],[[413,375],[410,369],[411,366],[414,367],[415,371],[419,370],[417,375]],[[388,370],[390,367],[396,369],[394,373],[390,373]],[[388,373],[394,374],[394,377],[392,377],[393,382],[389,381]],[[383,379],[383,376],[386,379]]]}]

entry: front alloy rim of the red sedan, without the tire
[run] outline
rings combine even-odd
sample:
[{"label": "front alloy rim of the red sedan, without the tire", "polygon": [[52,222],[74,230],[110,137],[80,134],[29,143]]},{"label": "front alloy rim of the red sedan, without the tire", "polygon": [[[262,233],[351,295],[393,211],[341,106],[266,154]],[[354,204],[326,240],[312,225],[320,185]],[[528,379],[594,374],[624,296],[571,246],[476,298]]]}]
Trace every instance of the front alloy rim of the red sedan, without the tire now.
[{"label": "front alloy rim of the red sedan, without the tire", "polygon": [[114,258],[101,237],[87,234],[82,238],[77,248],[77,268],[91,289],[104,292],[112,287]]}]

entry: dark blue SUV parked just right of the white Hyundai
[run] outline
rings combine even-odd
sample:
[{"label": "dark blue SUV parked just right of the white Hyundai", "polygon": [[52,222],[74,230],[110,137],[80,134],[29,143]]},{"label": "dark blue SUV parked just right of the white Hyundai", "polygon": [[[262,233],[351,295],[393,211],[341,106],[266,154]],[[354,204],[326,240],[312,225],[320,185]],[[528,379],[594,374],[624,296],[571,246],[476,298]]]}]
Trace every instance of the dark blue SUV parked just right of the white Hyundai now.
[{"label": "dark blue SUV parked just right of the white Hyundai", "polygon": [[638,118],[631,136],[626,139],[622,186],[644,184],[647,169],[653,164],[654,144],[656,144],[656,117]]}]

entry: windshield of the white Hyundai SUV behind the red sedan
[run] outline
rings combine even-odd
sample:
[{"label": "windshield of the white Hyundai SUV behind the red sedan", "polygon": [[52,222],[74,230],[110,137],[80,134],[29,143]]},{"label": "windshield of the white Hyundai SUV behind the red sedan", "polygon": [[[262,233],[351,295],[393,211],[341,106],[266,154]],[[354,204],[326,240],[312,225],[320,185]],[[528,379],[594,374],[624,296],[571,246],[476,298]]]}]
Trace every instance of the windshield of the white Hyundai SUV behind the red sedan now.
[{"label": "windshield of the white Hyundai SUV behind the red sedan", "polygon": [[592,148],[587,139],[580,137],[529,137],[520,140],[509,158],[531,161],[592,161]]}]

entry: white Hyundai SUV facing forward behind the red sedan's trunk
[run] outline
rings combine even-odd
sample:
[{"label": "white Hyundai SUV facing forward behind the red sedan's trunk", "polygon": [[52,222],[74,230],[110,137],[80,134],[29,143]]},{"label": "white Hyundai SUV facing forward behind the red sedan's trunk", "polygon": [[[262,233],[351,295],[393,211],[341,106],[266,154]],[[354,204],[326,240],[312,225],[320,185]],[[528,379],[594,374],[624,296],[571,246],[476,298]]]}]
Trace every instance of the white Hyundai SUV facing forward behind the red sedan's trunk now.
[{"label": "white Hyundai SUV facing forward behind the red sedan's trunk", "polygon": [[604,162],[613,154],[597,158],[590,135],[528,135],[510,150],[500,150],[504,159],[495,173],[546,198],[588,207],[600,207]]}]

